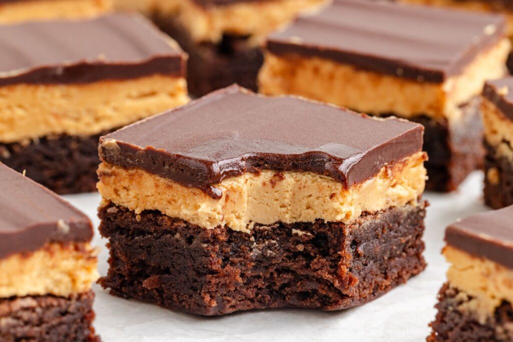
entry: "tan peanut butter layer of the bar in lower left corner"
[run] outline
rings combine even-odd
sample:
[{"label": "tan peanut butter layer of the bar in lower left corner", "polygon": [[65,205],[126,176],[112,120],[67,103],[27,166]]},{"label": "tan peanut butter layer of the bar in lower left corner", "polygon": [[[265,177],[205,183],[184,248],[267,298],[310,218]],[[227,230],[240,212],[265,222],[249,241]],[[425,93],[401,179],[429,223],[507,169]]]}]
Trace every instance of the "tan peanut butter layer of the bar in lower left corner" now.
[{"label": "tan peanut butter layer of the bar in lower left corner", "polygon": [[88,292],[98,279],[96,253],[87,243],[50,243],[0,259],[0,298]]}]

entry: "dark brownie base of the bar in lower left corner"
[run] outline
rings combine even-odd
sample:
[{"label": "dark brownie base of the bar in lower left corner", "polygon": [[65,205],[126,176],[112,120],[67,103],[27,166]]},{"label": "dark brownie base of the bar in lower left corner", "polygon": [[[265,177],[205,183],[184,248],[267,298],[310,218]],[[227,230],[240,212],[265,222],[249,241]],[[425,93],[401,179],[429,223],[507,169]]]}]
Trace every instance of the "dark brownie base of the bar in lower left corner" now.
[{"label": "dark brownie base of the bar in lower left corner", "polygon": [[92,309],[94,294],[74,298],[28,296],[0,299],[3,342],[97,342]]}]

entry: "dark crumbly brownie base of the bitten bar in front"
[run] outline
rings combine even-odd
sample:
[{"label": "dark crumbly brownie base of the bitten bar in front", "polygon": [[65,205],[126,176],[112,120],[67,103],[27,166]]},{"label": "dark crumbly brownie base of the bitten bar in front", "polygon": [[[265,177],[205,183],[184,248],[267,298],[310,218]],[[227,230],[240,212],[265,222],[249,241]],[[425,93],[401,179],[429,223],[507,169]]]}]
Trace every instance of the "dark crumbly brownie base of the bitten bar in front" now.
[{"label": "dark crumbly brownie base of the bitten bar in front", "polygon": [[265,308],[364,304],[426,266],[424,205],[343,223],[203,229],[155,211],[100,209],[109,238],[104,288],[168,309],[222,315]]}]

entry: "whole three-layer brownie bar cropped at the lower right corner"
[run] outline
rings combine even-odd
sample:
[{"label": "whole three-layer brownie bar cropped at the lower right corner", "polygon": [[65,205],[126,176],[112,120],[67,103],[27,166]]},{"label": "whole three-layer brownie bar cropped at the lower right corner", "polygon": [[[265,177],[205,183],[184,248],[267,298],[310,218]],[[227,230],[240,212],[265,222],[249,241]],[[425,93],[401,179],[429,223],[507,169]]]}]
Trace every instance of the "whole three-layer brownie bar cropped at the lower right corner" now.
[{"label": "whole three-layer brownie bar cropped at the lower right corner", "polygon": [[429,342],[513,340],[512,220],[507,207],[447,228],[443,253],[451,265]]}]

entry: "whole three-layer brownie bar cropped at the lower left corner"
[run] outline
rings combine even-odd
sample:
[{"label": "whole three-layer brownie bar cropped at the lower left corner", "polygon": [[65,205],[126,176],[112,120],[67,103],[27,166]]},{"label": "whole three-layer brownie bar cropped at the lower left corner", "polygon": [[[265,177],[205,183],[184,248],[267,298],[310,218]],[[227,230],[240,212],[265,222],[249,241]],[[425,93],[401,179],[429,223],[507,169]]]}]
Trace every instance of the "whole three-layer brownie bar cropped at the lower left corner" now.
[{"label": "whole three-layer brownie bar cropped at the lower left corner", "polygon": [[86,215],[0,163],[0,340],[96,341]]}]

